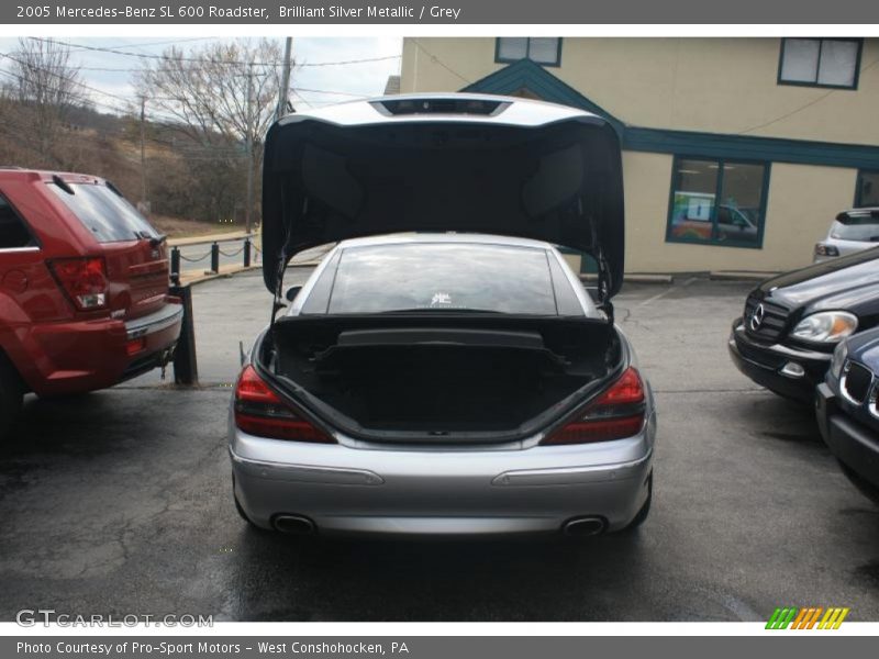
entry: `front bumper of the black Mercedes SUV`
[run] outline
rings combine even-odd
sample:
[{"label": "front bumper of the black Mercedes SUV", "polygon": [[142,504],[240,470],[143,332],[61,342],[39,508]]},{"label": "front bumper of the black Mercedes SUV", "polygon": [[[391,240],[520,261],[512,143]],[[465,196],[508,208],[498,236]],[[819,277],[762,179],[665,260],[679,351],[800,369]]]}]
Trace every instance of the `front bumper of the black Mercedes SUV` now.
[{"label": "front bumper of the black Mercedes SUV", "polygon": [[[754,382],[806,403],[812,402],[815,386],[824,380],[832,358],[830,353],[755,343],[745,335],[742,319],[733,322],[727,347],[735,367]],[[782,373],[788,364],[802,367],[803,375],[794,377]]]}]

